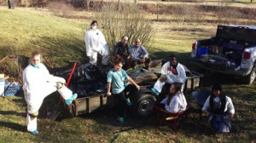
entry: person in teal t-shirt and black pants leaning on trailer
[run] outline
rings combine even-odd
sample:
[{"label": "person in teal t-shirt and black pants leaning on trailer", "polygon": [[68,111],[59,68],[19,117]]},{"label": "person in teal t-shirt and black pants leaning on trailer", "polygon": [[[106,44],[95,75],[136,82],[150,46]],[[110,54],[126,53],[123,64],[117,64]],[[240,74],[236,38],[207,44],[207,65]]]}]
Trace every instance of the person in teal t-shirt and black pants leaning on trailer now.
[{"label": "person in teal t-shirt and black pants leaning on trailer", "polygon": [[[126,92],[133,94],[138,89],[140,89],[137,83],[135,83],[131,77],[129,77],[127,73],[122,69],[122,66],[122,60],[115,61],[114,67],[111,71],[108,72],[107,77],[107,95],[111,95],[110,89],[112,89],[113,97],[119,101],[118,106],[116,107],[119,116],[119,123],[124,123],[125,105],[132,105],[130,98],[127,97],[128,94],[126,94]],[[135,86],[131,84],[127,85],[126,82],[130,82]]]}]

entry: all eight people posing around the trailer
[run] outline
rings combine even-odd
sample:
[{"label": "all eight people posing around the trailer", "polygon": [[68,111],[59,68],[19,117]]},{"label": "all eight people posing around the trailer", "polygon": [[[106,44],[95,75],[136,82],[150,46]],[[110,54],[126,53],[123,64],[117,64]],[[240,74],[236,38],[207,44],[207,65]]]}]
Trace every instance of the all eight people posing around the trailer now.
[{"label": "all eight people posing around the trailer", "polygon": [[[102,54],[102,65],[108,66],[110,58],[108,44],[102,31],[98,30],[96,26],[97,21],[94,20],[90,24],[90,29],[85,32],[86,54],[90,57],[90,63],[93,65],[97,63],[97,53]],[[125,106],[132,106],[129,95],[136,94],[140,89],[140,86],[127,75],[122,67],[128,63],[131,63],[131,66],[135,66],[136,62],[145,63],[145,66],[147,66],[146,61],[149,63],[148,52],[140,44],[140,39],[136,38],[135,45],[131,47],[127,41],[128,37],[124,36],[122,41],[115,45],[113,50],[114,66],[107,76],[107,95],[113,95],[119,101],[115,108],[119,123],[125,122]],[[41,60],[42,54],[34,51],[30,64],[23,72],[23,90],[27,104],[27,130],[32,134],[38,134],[38,110],[47,95],[57,90],[67,105],[70,105],[78,96],[67,89],[64,78],[50,75]],[[155,95],[159,96],[160,106],[166,111],[176,113],[186,109],[187,101],[183,94],[185,81],[185,69],[172,54],[170,60],[162,66],[161,76],[151,89]],[[218,132],[230,132],[230,120],[235,109],[230,97],[224,94],[220,84],[212,85],[212,94],[207,98],[202,112],[208,115],[212,129]]]}]

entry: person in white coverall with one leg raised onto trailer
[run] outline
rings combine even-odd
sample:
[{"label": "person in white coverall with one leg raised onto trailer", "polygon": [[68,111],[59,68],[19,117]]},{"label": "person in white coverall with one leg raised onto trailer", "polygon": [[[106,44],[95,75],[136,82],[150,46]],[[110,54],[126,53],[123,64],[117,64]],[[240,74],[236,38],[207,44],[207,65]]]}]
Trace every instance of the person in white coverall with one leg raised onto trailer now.
[{"label": "person in white coverall with one leg raised onto trailer", "polygon": [[41,54],[34,51],[31,63],[23,72],[23,90],[27,104],[26,124],[27,130],[32,134],[38,134],[38,110],[47,95],[58,90],[67,105],[77,98],[77,94],[73,94],[70,89],[63,86],[63,83],[66,83],[64,78],[49,74],[47,68],[41,63]]}]

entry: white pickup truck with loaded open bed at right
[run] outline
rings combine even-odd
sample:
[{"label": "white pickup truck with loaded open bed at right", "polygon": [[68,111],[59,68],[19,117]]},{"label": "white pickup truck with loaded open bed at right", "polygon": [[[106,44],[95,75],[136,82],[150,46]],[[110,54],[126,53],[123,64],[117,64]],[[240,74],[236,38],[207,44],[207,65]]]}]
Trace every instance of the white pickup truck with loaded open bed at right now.
[{"label": "white pickup truck with loaded open bed at right", "polygon": [[256,26],[218,26],[216,36],[192,44],[189,62],[198,69],[241,77],[256,77]]}]

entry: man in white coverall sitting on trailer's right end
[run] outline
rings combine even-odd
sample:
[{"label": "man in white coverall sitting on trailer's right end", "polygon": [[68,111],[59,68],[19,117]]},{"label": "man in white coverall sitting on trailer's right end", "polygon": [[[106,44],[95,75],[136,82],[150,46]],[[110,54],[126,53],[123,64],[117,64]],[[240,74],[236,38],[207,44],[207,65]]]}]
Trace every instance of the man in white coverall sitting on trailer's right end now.
[{"label": "man in white coverall sitting on trailer's right end", "polygon": [[[183,65],[178,63],[176,56],[172,54],[170,56],[170,61],[166,62],[166,64],[162,66],[161,77],[156,83],[154,83],[152,91],[154,94],[159,95],[166,83],[185,83],[186,78],[186,72]],[[169,89],[169,87],[167,87],[167,89]],[[181,91],[183,91],[183,88]]]}]

